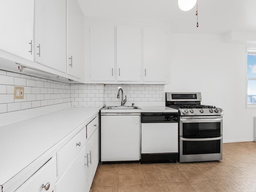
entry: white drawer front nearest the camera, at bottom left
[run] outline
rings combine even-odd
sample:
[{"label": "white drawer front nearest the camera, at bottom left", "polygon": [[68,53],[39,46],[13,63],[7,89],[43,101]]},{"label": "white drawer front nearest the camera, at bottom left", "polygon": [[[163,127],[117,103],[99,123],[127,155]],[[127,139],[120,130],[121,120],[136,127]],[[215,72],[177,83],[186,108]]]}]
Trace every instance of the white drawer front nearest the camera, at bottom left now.
[{"label": "white drawer front nearest the camera, at bottom left", "polygon": [[[56,158],[54,157],[44,164],[44,166],[33,174],[24,184],[22,184],[16,192],[44,192],[49,184],[50,188],[47,191],[52,192],[54,190],[54,183],[56,180]],[[46,188],[42,188],[42,185],[45,185]]]}]

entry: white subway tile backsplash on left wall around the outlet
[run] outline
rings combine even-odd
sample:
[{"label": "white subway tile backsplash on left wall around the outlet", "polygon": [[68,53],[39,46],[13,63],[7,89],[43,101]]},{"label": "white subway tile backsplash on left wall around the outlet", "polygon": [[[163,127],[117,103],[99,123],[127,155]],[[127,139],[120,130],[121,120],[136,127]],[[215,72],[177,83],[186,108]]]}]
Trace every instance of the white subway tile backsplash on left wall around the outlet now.
[{"label": "white subway tile backsplash on left wall around the outlet", "polygon": [[[24,99],[14,100],[14,86],[24,86]],[[70,101],[69,84],[0,70],[0,113]]]}]

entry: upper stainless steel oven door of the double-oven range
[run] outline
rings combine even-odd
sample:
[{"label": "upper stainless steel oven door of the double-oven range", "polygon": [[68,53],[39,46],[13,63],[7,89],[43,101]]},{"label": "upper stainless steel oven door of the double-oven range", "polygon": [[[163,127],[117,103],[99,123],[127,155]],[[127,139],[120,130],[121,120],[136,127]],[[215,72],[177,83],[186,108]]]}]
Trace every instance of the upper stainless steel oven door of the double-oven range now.
[{"label": "upper stainless steel oven door of the double-oven range", "polygon": [[179,135],[183,138],[209,138],[222,135],[222,116],[181,116]]}]

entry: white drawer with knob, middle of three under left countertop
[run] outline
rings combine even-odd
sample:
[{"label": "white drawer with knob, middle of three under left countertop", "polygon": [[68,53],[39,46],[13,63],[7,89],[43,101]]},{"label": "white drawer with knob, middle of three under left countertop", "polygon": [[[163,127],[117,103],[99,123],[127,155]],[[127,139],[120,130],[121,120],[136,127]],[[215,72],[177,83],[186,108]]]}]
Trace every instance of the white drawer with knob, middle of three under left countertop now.
[{"label": "white drawer with knob, middle of three under left countertop", "polygon": [[61,176],[85,145],[86,129],[83,128],[57,152],[57,175]]}]

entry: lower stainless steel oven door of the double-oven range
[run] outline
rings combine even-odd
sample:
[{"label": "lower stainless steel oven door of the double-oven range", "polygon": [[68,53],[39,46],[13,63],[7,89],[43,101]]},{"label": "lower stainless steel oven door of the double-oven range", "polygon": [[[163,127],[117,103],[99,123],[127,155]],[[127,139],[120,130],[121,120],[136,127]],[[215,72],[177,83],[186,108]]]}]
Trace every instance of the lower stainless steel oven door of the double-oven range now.
[{"label": "lower stainless steel oven door of the double-oven range", "polygon": [[222,160],[222,136],[183,138],[180,136],[180,162]]}]

